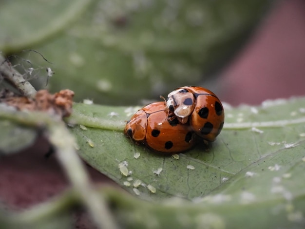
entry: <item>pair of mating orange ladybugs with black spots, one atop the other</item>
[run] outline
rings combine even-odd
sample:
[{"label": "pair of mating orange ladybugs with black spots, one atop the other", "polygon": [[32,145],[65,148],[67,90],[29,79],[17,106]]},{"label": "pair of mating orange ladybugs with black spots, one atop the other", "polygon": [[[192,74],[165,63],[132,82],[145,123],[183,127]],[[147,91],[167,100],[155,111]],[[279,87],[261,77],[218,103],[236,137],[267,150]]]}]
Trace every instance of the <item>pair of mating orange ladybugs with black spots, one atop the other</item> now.
[{"label": "pair of mating orange ladybugs with black spots, one atop the other", "polygon": [[191,149],[198,138],[214,141],[224,119],[214,93],[186,86],[172,91],[166,102],[151,103],[135,113],[124,133],[154,151],[173,154]]}]

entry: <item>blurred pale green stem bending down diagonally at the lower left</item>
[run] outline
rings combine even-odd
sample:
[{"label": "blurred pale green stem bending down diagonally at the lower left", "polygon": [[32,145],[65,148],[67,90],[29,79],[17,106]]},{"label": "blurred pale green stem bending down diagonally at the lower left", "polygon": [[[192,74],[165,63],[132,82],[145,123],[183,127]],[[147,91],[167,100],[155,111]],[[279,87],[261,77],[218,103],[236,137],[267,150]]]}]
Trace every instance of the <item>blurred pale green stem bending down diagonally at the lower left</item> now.
[{"label": "blurred pale green stem bending down diagonally at the lower left", "polygon": [[0,117],[27,126],[45,127],[50,143],[57,150],[56,156],[59,163],[62,165],[97,227],[100,229],[117,228],[104,197],[100,196],[92,187],[89,175],[75,152],[75,139],[61,119],[56,119],[42,112],[16,112],[9,109],[9,107],[0,109]]}]

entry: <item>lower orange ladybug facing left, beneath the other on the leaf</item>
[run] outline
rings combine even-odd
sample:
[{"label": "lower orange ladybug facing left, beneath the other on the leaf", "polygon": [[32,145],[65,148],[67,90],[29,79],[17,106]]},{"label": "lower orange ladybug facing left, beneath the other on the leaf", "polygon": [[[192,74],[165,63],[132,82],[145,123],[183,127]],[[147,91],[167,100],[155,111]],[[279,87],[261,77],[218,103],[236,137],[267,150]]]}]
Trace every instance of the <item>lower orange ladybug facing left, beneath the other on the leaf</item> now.
[{"label": "lower orange ladybug facing left, beneath the other on the leaf", "polygon": [[190,125],[169,117],[165,102],[151,103],[137,111],[127,122],[124,134],[161,153],[180,153],[195,145]]}]

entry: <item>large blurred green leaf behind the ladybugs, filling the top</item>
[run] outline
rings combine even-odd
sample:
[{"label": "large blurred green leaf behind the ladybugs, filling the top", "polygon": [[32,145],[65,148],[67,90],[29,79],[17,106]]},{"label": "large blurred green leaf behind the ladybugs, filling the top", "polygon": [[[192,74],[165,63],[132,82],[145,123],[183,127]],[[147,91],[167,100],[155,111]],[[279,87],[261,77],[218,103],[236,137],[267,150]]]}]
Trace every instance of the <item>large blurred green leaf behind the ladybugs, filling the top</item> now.
[{"label": "large blurred green leaf behind the ladybugs, filling the top", "polygon": [[140,104],[217,80],[272,2],[1,0],[0,51],[37,89],[50,67],[51,92],[71,89],[76,102]]}]

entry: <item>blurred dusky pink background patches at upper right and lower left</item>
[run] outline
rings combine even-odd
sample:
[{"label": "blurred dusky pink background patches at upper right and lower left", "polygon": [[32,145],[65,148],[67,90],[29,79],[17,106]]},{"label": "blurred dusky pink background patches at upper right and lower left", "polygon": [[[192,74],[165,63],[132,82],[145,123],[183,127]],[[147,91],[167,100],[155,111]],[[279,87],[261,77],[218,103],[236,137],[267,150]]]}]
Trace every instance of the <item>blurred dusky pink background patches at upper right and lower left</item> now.
[{"label": "blurred dusky pink background patches at upper right and lower left", "polygon": [[[305,1],[280,1],[221,75],[217,95],[232,105],[305,95]],[[25,152],[1,158],[0,197],[9,207],[27,208],[67,188],[56,158],[44,158],[47,151],[42,139]],[[87,168],[95,182],[114,184]],[[78,228],[91,228],[86,217],[77,219]]]}]

